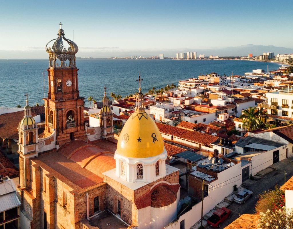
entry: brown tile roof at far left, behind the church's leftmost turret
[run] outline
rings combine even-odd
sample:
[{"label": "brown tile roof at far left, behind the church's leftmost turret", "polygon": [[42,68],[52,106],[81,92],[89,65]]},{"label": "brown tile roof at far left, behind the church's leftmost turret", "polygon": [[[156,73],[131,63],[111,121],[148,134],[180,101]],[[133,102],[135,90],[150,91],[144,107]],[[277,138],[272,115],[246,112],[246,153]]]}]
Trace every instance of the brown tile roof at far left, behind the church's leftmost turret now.
[{"label": "brown tile roof at far left, behind the church's leftmost turret", "polygon": [[[44,106],[33,106],[31,108],[32,117],[45,113]],[[18,124],[24,116],[24,111],[17,111],[0,115],[0,137],[8,139],[18,139]]]}]

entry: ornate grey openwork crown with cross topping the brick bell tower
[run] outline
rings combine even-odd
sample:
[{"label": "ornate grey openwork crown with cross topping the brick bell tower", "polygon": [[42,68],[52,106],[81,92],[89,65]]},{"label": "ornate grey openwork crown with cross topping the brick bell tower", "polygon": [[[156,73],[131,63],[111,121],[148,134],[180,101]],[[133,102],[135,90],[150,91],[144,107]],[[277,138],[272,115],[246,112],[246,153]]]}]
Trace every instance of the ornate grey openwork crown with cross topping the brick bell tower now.
[{"label": "ornate grey openwork crown with cross topping the brick bell tower", "polygon": [[[60,22],[60,29],[58,30],[58,38],[50,40],[46,45],[46,51],[49,53],[49,67],[50,68],[56,68],[56,60],[59,59],[61,61],[61,64],[59,68],[67,68],[65,66],[65,61],[69,60],[69,68],[76,68],[75,64],[75,54],[78,52],[78,47],[76,43],[74,43],[72,40],[69,40],[64,37],[65,33],[62,29],[62,23]],[[63,45],[63,40],[67,42],[69,47],[66,49]],[[52,48],[49,45],[54,41]]]}]

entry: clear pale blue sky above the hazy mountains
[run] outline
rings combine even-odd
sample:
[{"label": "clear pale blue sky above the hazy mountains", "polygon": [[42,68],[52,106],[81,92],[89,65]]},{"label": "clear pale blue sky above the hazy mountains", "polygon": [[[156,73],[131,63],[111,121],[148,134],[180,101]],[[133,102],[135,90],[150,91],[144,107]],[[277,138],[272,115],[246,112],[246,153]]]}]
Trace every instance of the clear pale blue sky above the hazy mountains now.
[{"label": "clear pale blue sky above the hazy mountains", "polygon": [[67,38],[73,39],[74,30],[74,41],[82,52],[246,44],[293,48],[292,6],[292,1],[255,0],[0,0],[0,58],[5,58],[3,50],[35,52],[42,57],[38,51],[57,37],[60,21]]}]

